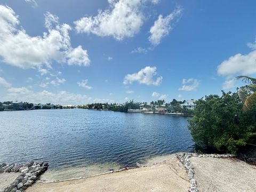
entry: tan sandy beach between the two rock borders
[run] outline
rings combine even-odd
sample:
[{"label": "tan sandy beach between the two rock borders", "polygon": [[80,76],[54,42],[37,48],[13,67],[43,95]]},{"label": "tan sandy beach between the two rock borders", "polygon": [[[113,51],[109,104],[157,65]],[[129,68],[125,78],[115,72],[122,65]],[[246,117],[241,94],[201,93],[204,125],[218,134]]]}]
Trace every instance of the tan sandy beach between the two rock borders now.
[{"label": "tan sandy beach between the two rock borders", "polygon": [[152,166],[62,182],[36,182],[26,191],[188,191],[178,158]]}]

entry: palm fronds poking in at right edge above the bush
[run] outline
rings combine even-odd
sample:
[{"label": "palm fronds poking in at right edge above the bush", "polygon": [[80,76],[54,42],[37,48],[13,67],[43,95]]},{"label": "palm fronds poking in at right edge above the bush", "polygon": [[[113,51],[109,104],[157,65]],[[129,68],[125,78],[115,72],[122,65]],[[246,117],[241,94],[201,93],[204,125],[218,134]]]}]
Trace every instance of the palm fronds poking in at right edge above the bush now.
[{"label": "palm fronds poking in at right edge above the bush", "polygon": [[243,111],[250,110],[256,104],[256,78],[249,76],[237,76],[247,85],[240,87],[238,95],[244,102]]}]

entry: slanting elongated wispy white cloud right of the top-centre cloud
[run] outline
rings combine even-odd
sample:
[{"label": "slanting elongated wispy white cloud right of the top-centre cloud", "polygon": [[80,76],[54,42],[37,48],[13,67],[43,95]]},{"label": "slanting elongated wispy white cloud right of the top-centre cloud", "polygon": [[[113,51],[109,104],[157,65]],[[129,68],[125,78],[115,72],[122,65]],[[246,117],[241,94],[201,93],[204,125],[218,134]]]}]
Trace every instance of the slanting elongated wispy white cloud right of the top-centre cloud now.
[{"label": "slanting elongated wispy white cloud right of the top-centre cloud", "polygon": [[149,42],[153,45],[158,45],[161,43],[161,39],[169,34],[173,29],[171,21],[179,18],[182,13],[182,8],[178,6],[171,14],[163,18],[163,15],[159,15],[158,19],[155,21],[154,26],[150,28]]}]

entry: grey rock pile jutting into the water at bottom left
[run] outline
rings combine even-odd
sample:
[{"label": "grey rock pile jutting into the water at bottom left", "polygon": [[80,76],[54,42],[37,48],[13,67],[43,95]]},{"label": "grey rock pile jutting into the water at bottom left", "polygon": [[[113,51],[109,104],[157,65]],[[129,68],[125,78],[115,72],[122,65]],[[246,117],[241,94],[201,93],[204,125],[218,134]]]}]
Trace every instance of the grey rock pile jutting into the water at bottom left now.
[{"label": "grey rock pile jutting into the water at bottom left", "polygon": [[30,187],[38,177],[43,174],[48,168],[48,163],[28,162],[25,164],[0,164],[0,173],[4,172],[20,172],[9,186],[0,192],[22,192]]}]

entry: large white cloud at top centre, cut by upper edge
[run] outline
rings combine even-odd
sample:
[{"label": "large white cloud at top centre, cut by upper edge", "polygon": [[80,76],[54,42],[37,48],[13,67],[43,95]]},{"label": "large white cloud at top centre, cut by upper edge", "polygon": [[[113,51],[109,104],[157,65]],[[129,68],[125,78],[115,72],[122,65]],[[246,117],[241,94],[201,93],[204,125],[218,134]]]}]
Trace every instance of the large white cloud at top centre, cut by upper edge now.
[{"label": "large white cloud at top centre, cut by upper edge", "polygon": [[[84,17],[75,21],[78,33],[94,34],[101,37],[112,36],[118,41],[133,37],[143,24],[141,11],[145,0],[108,0],[109,8],[99,10],[95,17]],[[156,0],[151,0],[157,3]]]}]

